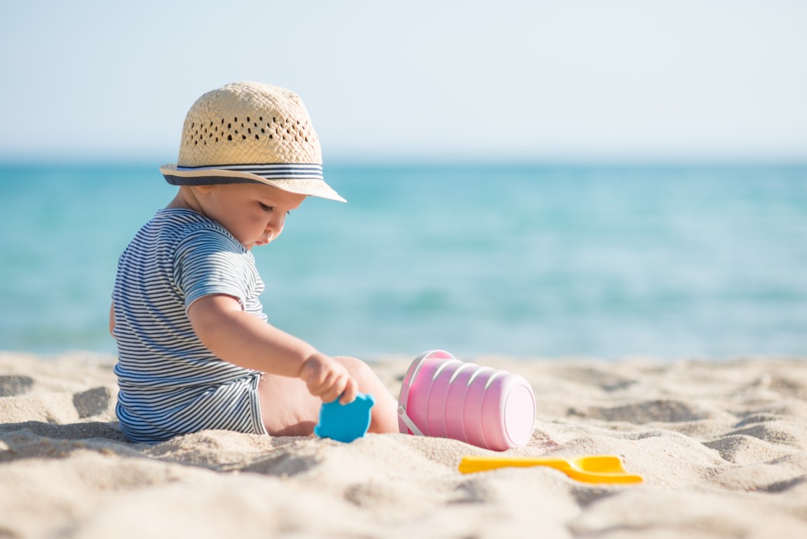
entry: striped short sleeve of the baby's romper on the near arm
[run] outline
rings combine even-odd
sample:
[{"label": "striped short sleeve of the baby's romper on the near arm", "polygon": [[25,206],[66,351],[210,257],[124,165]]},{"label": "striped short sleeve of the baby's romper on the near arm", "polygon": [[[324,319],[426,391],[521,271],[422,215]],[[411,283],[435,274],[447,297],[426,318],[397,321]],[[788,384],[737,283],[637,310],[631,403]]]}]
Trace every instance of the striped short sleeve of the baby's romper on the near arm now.
[{"label": "striped short sleeve of the baby's romper on the near arm", "polygon": [[174,283],[185,298],[186,310],[212,294],[236,297],[243,309],[254,271],[249,251],[215,229],[194,230],[174,251]]}]

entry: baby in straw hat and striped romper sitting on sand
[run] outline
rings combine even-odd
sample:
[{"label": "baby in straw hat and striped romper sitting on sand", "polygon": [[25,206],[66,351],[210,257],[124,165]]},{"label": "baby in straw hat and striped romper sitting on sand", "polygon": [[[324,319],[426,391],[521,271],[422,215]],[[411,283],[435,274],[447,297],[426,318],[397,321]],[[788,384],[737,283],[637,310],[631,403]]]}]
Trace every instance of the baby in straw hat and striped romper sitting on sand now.
[{"label": "baby in straw hat and striped romper sitting on sand", "polygon": [[188,112],[174,200],[120,256],[110,313],[120,427],[156,443],[208,428],[311,435],[322,402],[372,394],[370,432],[399,432],[397,403],[362,361],[271,326],[250,250],[278,238],[307,196],[345,201],[291,91],[235,82]]}]

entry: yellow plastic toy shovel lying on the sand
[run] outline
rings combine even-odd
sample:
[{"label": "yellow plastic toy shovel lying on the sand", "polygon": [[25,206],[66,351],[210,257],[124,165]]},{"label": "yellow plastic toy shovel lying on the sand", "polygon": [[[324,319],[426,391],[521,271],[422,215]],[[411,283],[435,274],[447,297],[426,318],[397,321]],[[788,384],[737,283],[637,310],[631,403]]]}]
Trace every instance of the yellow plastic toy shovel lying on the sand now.
[{"label": "yellow plastic toy shovel lying on the sand", "polygon": [[459,471],[463,474],[483,472],[515,466],[549,466],[560,470],[570,478],[587,483],[638,483],[641,475],[628,474],[619,457],[612,455],[589,455],[587,457],[533,458],[533,457],[462,457]]}]

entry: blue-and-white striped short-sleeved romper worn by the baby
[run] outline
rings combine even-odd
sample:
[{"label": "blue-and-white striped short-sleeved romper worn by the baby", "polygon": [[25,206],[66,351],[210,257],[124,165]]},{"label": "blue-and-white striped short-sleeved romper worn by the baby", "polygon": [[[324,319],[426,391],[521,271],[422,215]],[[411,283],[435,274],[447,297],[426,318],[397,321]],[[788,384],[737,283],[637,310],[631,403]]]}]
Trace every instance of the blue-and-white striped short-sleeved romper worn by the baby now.
[{"label": "blue-and-white striped short-sleeved romper worn by the baby", "polygon": [[116,412],[129,440],[157,443],[216,428],[266,434],[259,371],[214,356],[196,337],[187,309],[200,297],[236,297],[266,320],[255,259],[215,221],[186,209],[161,209],[118,262]]}]

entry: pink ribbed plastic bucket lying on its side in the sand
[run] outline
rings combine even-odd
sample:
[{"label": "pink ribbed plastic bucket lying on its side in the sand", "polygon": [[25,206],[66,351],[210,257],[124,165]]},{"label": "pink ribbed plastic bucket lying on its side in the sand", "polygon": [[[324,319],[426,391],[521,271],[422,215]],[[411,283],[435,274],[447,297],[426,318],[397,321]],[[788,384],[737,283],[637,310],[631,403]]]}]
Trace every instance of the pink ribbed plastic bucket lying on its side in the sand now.
[{"label": "pink ribbed plastic bucket lying on its side in the sand", "polygon": [[535,423],[535,395],[524,377],[443,350],[425,352],[409,365],[398,404],[401,432],[496,451],[526,445]]}]

